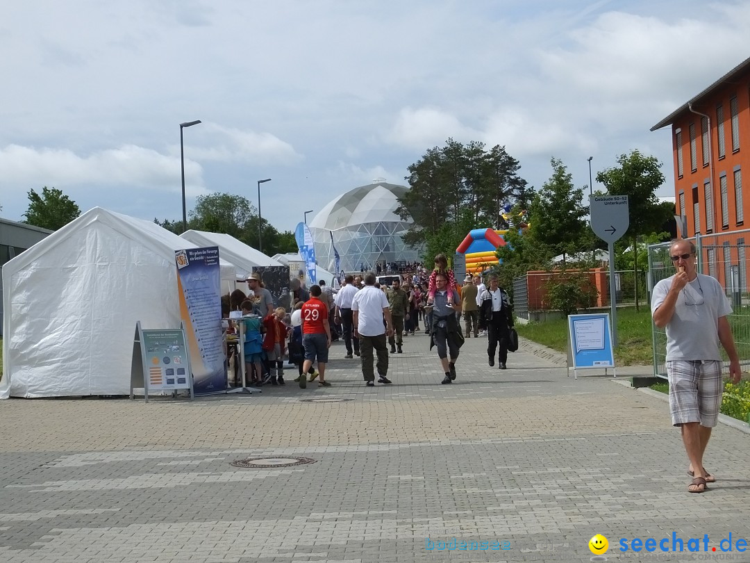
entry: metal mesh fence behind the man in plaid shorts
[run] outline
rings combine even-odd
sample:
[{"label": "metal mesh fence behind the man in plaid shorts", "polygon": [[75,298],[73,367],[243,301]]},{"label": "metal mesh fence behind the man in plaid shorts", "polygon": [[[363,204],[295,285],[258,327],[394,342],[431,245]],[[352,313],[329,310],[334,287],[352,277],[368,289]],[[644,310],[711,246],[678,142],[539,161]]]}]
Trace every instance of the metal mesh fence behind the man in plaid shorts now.
[{"label": "metal mesh fence behind the man in plaid shorts", "polygon": [[[750,240],[750,229],[732,233],[698,235],[688,239],[697,249],[697,270],[716,278],[732,305],[729,324],[740,363],[750,363],[750,295],[748,295],[748,263],[745,259],[745,240]],[[674,264],[669,257],[669,243],[649,245],[649,291],[658,281],[674,275]],[[664,329],[652,325],[654,373],[667,376]],[[724,360],[727,360],[724,351]],[[725,361],[724,368],[728,366]]]}]

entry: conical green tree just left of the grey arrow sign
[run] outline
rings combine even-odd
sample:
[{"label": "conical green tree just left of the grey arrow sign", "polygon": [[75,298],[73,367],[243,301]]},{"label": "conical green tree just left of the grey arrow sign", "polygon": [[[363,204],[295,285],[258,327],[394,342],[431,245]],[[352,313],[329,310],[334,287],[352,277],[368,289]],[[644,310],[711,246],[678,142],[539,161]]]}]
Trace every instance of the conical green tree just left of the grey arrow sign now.
[{"label": "conical green tree just left of the grey arrow sign", "polygon": [[535,194],[529,210],[526,236],[542,254],[562,254],[562,265],[571,254],[590,250],[592,235],[583,219],[583,189],[573,185],[571,173],[557,158],[550,160],[553,174]]}]

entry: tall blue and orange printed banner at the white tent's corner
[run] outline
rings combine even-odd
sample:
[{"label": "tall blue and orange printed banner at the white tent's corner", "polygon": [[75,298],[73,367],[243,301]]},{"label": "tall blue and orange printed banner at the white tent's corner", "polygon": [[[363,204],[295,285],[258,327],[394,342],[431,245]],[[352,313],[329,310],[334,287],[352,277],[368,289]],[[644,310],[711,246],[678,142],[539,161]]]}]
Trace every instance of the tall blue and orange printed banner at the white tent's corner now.
[{"label": "tall blue and orange printed banner at the white tent's corner", "polygon": [[196,395],[223,393],[226,363],[221,328],[219,248],[175,251],[180,317],[185,326]]}]

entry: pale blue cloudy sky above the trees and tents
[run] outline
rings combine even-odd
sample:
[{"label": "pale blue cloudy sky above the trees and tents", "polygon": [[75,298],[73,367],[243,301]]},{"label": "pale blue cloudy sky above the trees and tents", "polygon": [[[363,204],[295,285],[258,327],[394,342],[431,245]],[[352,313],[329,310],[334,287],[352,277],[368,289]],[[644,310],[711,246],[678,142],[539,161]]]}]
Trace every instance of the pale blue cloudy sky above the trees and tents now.
[{"label": "pale blue cloudy sky above the trees and tents", "polygon": [[[449,137],[499,144],[535,188],[577,187],[745,60],[750,2],[25,0],[0,6],[0,217],[28,191],[181,219],[228,192],[278,230]],[[594,188],[601,188],[594,179]],[[484,227],[484,225],[477,225]]]}]

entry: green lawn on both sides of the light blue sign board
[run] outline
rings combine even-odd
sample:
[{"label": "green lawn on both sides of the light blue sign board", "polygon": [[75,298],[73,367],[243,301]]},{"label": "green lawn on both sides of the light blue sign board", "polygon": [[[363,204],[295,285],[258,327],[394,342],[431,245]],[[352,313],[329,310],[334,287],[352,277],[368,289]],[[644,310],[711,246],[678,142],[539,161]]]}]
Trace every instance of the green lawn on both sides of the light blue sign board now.
[{"label": "green lawn on both sides of the light blue sign board", "polygon": [[[523,338],[560,352],[568,346],[568,321],[564,318],[550,318],[541,323],[516,324],[516,330]],[[617,338],[619,345],[614,349],[614,359],[618,366],[649,366],[653,363],[651,338],[651,312],[647,306],[640,312],[635,309],[617,309]]]}]

